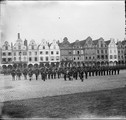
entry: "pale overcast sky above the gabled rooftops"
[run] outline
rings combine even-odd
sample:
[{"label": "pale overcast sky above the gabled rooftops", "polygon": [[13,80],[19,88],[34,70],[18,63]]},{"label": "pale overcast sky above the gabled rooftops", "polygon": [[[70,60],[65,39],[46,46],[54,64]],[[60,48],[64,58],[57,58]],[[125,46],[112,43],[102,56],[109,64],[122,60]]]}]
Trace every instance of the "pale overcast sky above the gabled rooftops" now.
[{"label": "pale overcast sky above the gabled rooftops", "polygon": [[2,38],[9,42],[21,38],[40,43],[68,37],[70,42],[125,37],[124,1],[25,1],[2,6]]}]

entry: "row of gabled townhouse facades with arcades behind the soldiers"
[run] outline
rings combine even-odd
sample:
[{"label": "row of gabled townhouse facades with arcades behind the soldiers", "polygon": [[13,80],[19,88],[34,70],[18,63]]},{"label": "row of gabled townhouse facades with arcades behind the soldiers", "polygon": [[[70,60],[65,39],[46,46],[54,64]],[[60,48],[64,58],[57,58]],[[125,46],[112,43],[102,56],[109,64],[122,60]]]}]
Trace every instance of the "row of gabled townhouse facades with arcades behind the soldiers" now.
[{"label": "row of gabled townhouse facades with arcades behind the soldiers", "polygon": [[18,33],[16,43],[11,45],[5,41],[1,49],[1,64],[13,63],[56,63],[74,62],[85,65],[124,65],[126,63],[126,40],[115,43],[114,39],[105,41],[103,38],[92,40],[76,40],[70,43],[67,37],[59,43],[53,40],[48,43],[42,40],[39,45],[34,40],[29,44],[22,40]]}]

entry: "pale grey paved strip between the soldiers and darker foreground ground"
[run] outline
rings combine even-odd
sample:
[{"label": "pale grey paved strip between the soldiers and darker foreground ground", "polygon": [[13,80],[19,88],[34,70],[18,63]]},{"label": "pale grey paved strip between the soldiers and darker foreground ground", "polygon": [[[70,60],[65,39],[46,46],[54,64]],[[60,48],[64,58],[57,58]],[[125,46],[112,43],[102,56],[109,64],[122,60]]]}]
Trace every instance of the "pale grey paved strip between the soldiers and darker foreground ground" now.
[{"label": "pale grey paved strip between the soldiers and darker foreground ground", "polygon": [[[39,76],[40,77],[40,76]],[[121,70],[119,75],[94,76],[85,79],[64,81],[61,79],[48,79],[45,82],[35,77],[32,81],[12,81],[10,75],[0,74],[0,102],[55,96],[78,92],[89,92],[124,87],[126,85],[126,70]]]}]

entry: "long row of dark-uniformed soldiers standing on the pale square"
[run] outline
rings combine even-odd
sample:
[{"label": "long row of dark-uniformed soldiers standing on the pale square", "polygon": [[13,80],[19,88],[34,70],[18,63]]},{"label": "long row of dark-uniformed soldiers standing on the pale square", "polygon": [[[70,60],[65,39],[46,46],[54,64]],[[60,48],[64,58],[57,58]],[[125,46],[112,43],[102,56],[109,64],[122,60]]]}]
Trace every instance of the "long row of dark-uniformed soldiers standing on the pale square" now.
[{"label": "long row of dark-uniformed soldiers standing on the pale square", "polygon": [[69,80],[81,80],[88,79],[91,76],[105,76],[105,75],[116,75],[119,74],[120,68],[116,66],[112,67],[85,67],[85,66],[72,66],[72,67],[41,67],[41,68],[12,68],[11,75],[12,80],[21,80],[21,77],[24,76],[24,79],[29,81],[33,80],[33,75],[35,79],[38,80],[39,76],[41,80],[46,81],[48,79],[60,79],[64,78],[65,81]]}]

